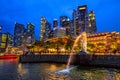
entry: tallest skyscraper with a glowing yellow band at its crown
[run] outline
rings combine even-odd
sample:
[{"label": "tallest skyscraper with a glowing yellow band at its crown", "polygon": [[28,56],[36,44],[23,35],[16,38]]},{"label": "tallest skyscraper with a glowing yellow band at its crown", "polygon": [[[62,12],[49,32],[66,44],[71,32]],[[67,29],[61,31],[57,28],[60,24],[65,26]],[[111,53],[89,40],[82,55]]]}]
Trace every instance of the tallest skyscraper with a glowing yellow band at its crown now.
[{"label": "tallest skyscraper with a glowing yellow band at its crown", "polygon": [[79,34],[86,31],[88,27],[88,10],[87,5],[78,6],[78,25]]}]

